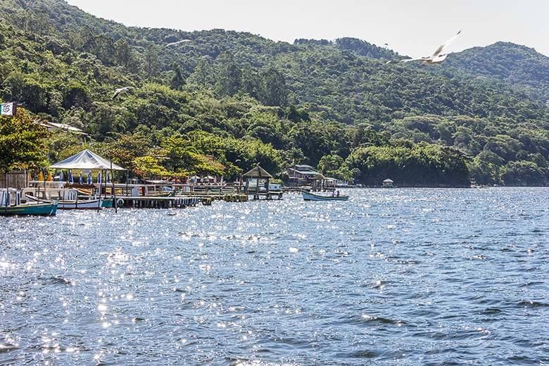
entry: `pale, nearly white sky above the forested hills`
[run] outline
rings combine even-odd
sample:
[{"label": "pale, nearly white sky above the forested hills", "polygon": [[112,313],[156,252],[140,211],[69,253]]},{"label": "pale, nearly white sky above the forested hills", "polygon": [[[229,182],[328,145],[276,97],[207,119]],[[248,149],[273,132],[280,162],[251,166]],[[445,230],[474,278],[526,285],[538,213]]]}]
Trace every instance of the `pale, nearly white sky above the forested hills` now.
[{"label": "pale, nearly white sky above the forested hills", "polygon": [[[275,41],[355,37],[400,54],[431,55],[498,41],[549,56],[548,0],[67,0],[88,13],[139,27],[222,28]],[[131,6],[130,6],[131,4]]]}]

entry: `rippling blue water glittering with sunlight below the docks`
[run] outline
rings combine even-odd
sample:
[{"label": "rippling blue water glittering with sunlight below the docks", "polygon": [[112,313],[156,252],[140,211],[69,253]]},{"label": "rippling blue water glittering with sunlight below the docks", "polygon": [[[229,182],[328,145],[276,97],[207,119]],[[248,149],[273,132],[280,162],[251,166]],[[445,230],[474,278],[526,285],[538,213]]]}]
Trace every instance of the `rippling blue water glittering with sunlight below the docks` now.
[{"label": "rippling blue water glittering with sunlight below the docks", "polygon": [[549,189],[0,218],[0,364],[549,365]]}]

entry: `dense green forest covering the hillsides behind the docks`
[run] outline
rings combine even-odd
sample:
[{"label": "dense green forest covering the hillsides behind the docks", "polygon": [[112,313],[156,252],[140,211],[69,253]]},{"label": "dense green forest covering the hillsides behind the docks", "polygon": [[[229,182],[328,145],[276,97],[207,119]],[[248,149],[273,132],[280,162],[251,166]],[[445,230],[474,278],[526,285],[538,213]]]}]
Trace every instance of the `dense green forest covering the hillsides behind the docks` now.
[{"label": "dense green forest covering the hillsides behind the docks", "polygon": [[141,177],[309,163],[365,184],[549,183],[549,58],[524,46],[386,65],[403,56],[360,39],[125,27],[61,0],[3,0],[0,18],[0,100],[89,134],[49,134],[34,163],[85,146]]}]

